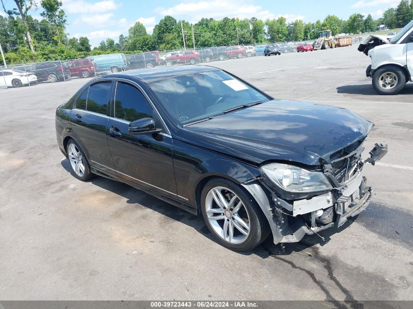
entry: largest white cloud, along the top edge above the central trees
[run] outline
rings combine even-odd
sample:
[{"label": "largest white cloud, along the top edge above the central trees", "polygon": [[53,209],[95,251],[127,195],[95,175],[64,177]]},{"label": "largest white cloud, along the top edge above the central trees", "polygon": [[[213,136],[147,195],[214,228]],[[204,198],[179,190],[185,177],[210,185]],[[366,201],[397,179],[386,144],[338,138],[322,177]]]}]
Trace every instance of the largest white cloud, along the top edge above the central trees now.
[{"label": "largest white cloud, along the top edge above the central trees", "polygon": [[[157,7],[155,12],[161,16],[171,15],[182,17],[192,23],[199,21],[201,18],[221,19],[224,17],[251,18],[256,17],[262,20],[267,18],[273,19],[283,15],[275,15],[268,10],[262,10],[260,5],[254,5],[242,0],[211,0],[211,1],[194,1],[181,2],[169,8]],[[304,16],[285,14],[288,21],[304,19]]]}]

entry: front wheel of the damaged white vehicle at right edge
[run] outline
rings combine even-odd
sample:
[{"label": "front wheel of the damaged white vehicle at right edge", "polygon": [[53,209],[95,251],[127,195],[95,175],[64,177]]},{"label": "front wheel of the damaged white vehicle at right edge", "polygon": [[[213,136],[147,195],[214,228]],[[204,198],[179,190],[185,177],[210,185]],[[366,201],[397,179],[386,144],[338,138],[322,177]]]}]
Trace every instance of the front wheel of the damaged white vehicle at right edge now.
[{"label": "front wheel of the damaged white vehicle at right edge", "polygon": [[405,87],[406,75],[401,68],[386,65],[374,72],[371,83],[377,93],[395,95]]}]

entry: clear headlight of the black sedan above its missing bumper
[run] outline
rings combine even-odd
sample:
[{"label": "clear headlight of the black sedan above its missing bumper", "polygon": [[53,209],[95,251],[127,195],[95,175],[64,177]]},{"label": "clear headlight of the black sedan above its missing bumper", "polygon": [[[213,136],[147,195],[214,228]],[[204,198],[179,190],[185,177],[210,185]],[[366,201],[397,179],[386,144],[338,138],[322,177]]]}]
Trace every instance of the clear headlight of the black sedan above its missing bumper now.
[{"label": "clear headlight of the black sedan above its missing bumper", "polygon": [[261,171],[277,186],[288,192],[318,192],[332,189],[321,172],[311,172],[288,164],[270,163]]}]

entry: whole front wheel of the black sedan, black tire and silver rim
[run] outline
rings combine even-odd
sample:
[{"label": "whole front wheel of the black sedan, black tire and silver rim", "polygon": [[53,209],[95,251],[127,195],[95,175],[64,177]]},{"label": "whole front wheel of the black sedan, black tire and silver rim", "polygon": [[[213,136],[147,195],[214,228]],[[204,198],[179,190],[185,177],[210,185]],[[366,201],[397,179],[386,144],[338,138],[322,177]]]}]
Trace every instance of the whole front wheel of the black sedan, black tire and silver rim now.
[{"label": "whole front wheel of the black sedan, black tire and silver rim", "polygon": [[225,178],[210,180],[201,192],[205,224],[217,241],[236,251],[257,247],[269,235],[269,225],[249,192]]}]

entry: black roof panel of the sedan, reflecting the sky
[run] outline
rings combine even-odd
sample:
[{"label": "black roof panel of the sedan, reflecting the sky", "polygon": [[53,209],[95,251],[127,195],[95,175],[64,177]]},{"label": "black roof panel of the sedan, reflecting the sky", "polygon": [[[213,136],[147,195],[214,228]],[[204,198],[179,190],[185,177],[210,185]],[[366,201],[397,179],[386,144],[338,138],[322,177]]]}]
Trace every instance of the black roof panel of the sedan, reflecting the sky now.
[{"label": "black roof panel of the sedan, reflecting the sky", "polygon": [[138,79],[142,82],[154,82],[173,78],[176,76],[189,75],[194,73],[218,71],[219,69],[207,65],[185,65],[185,66],[157,66],[148,69],[138,69],[122,72],[120,74],[104,75],[103,78],[125,78]]}]

